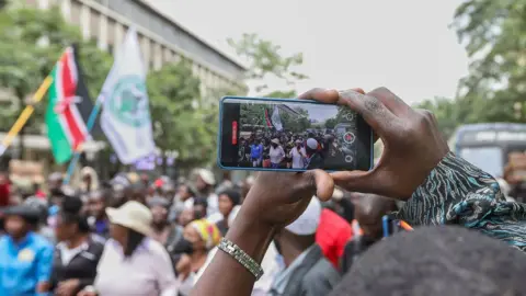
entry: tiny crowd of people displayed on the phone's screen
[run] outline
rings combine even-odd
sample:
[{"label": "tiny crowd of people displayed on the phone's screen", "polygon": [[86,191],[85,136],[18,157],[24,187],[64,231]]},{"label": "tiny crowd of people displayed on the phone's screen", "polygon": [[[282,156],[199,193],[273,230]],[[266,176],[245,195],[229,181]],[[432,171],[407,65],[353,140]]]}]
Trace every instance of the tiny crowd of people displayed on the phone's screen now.
[{"label": "tiny crowd of people displayed on the phone's screen", "polygon": [[333,132],[266,132],[241,137],[238,163],[244,168],[321,169],[325,159],[342,163],[344,152]]}]

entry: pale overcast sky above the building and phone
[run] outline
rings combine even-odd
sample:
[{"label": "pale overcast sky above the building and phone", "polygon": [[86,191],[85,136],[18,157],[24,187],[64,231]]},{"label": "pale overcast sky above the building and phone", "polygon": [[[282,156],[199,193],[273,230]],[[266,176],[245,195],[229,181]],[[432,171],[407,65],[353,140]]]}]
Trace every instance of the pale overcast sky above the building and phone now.
[{"label": "pale overcast sky above the building and phone", "polygon": [[[147,0],[217,48],[258,33],[301,52],[313,87],[388,87],[407,102],[453,98],[468,59],[448,25],[457,0]],[[274,88],[283,86],[271,81]]]}]

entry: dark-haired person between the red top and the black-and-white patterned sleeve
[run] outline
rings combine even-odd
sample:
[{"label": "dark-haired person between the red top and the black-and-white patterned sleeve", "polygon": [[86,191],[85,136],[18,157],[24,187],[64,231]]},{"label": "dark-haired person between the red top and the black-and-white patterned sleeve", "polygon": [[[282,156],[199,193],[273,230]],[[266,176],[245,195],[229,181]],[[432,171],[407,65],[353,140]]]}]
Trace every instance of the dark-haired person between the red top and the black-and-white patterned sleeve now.
[{"label": "dark-haired person between the red top and the black-and-white patterned sleeve", "polygon": [[354,234],[353,239],[345,244],[341,260],[341,272],[345,274],[357,257],[365,252],[373,243],[380,241],[384,234],[381,218],[384,215],[397,210],[393,200],[376,194],[353,193],[354,216],[359,225],[361,232]]}]

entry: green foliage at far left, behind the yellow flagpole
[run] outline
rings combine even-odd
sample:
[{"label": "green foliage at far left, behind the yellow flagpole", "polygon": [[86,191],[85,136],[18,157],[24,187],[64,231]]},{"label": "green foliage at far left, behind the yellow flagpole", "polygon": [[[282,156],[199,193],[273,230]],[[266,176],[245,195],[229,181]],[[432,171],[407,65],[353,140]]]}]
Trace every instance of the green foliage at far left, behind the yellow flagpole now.
[{"label": "green foliage at far left, behind the yellow flagpole", "polygon": [[[10,112],[1,114],[7,123],[2,125],[4,128],[14,123],[24,106],[20,101],[36,91],[65,47],[79,46],[79,62],[92,99],[99,94],[112,65],[111,55],[93,42],[82,41],[79,29],[67,24],[58,8],[37,10],[13,5],[1,10],[0,39],[0,87],[11,90],[15,96]],[[35,106],[35,114],[27,123],[28,132],[41,132],[45,105],[44,99]]]}]

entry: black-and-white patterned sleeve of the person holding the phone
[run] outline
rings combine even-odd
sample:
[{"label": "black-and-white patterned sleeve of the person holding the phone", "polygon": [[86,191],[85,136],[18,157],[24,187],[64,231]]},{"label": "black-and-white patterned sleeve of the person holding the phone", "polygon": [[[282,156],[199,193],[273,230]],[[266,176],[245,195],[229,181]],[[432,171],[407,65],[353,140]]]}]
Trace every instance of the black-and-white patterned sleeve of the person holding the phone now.
[{"label": "black-and-white patterned sleeve of the person holding the phone", "polygon": [[398,217],[413,226],[456,224],[526,250],[526,205],[506,202],[489,173],[449,152]]}]

